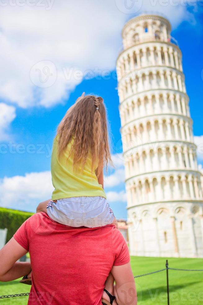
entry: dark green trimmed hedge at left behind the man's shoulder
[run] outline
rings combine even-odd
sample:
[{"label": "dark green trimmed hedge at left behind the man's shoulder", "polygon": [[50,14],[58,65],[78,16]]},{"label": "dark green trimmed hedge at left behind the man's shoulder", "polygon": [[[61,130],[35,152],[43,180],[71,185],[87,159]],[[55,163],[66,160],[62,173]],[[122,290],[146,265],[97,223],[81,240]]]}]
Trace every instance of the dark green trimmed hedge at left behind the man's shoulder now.
[{"label": "dark green trimmed hedge at left behind the man's shoulder", "polygon": [[33,213],[0,208],[0,229],[8,229],[7,242],[17,229],[20,228],[21,224],[32,215]]}]

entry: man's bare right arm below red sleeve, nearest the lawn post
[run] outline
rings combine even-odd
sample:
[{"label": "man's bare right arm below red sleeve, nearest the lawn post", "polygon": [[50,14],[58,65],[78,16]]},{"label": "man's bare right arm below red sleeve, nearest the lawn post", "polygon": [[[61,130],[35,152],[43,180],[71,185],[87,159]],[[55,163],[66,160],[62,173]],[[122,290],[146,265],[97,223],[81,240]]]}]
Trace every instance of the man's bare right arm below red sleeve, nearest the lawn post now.
[{"label": "man's bare right arm below red sleeve, nearest the lawn post", "polygon": [[118,305],[137,305],[137,292],[130,263],[113,266],[111,273],[115,279],[116,303]]}]

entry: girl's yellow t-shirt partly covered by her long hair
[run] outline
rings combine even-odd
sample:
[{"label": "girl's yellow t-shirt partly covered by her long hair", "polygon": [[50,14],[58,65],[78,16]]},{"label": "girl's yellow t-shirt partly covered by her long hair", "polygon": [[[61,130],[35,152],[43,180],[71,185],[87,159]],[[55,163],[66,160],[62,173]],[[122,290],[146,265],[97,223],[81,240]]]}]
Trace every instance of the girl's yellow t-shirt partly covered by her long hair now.
[{"label": "girl's yellow t-shirt partly covered by her long hair", "polygon": [[95,174],[96,164],[93,172],[91,154],[88,155],[83,171],[75,172],[73,169],[73,153],[70,157],[70,142],[67,150],[61,156],[60,161],[57,156],[57,137],[54,139],[52,148],[51,173],[52,184],[55,190],[52,193],[52,200],[80,196],[102,196],[106,194],[102,185],[98,183]]}]

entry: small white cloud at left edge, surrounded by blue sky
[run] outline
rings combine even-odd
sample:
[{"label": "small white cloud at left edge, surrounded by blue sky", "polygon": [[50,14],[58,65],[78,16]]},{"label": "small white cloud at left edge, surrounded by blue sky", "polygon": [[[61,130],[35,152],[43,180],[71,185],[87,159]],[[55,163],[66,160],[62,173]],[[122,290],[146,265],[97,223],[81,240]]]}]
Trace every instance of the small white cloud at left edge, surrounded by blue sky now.
[{"label": "small white cloud at left edge, surrounded by blue sky", "polygon": [[13,106],[8,106],[0,103],[0,141],[8,139],[8,129],[10,123],[16,117],[16,109]]}]

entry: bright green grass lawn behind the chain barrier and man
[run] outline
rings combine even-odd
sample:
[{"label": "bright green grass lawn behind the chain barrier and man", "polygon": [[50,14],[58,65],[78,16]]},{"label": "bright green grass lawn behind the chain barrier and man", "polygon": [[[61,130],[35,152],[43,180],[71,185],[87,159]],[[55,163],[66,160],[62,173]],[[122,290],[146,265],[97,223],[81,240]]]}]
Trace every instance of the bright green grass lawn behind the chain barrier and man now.
[{"label": "bright green grass lawn behind the chain barrier and man", "polygon": [[[131,257],[134,275],[164,269],[165,258]],[[203,259],[169,258],[169,267],[203,269]],[[167,304],[166,271],[136,279],[138,304]],[[29,292],[30,286],[13,281],[0,282],[0,295]],[[169,270],[170,304],[203,304],[203,272]],[[0,300],[0,305],[27,304],[28,297]]]}]

